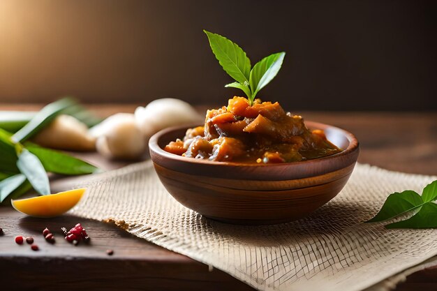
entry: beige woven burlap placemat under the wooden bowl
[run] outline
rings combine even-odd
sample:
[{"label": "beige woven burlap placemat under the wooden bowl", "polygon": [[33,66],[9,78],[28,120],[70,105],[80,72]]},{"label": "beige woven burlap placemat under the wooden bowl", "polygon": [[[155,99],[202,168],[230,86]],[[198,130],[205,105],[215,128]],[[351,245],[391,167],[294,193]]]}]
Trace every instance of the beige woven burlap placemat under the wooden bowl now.
[{"label": "beige woven burlap placemat under the wooden bowl", "polygon": [[386,230],[371,218],[388,194],[437,177],[357,165],[334,200],[308,218],[228,225],[186,209],[150,162],[77,183],[87,195],[71,213],[111,220],[128,232],[221,269],[259,290],[363,290],[437,254],[437,230]]}]

